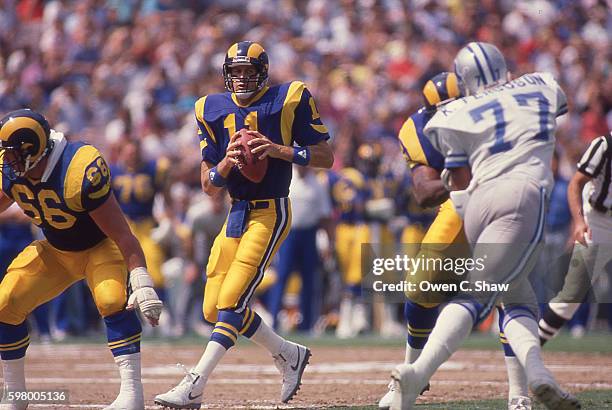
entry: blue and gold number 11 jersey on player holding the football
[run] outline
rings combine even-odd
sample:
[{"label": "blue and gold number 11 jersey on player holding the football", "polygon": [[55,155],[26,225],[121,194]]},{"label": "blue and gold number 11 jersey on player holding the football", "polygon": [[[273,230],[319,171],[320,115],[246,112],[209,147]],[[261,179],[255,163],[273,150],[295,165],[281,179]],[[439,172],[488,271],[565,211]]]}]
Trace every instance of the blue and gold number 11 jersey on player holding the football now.
[{"label": "blue and gold number 11 jersey on player holding the football", "polygon": [[[329,139],[314,99],[304,83],[293,81],[264,87],[248,105],[241,105],[229,92],[200,98],[195,104],[202,160],[218,164],[224,157],[230,136],[241,128],[257,130],[276,144],[315,145]],[[260,183],[246,179],[233,168],[227,179],[234,199],[282,198],[289,195],[291,163],[269,158],[268,170]]]}]

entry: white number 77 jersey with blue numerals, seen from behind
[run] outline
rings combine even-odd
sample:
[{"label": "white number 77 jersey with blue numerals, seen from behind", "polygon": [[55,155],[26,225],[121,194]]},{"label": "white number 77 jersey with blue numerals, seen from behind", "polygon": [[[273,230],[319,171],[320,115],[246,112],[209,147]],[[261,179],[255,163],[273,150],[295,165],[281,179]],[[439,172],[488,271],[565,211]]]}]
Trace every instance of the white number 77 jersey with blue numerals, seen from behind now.
[{"label": "white number 77 jersey with blue numerals, seen from behind", "polygon": [[509,172],[552,187],[556,117],[565,94],[549,73],[525,74],[439,107],[425,126],[445,168],[470,166],[470,188]]}]

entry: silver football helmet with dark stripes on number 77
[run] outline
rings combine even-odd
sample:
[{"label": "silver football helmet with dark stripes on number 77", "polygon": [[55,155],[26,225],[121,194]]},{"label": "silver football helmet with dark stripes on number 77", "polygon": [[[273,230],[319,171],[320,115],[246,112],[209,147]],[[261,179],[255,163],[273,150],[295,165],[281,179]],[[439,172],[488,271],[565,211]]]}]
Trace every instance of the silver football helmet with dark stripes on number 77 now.
[{"label": "silver football helmet with dark stripes on number 77", "polygon": [[472,95],[505,82],[508,68],[506,59],[493,44],[472,42],[457,53],[455,74],[465,87],[465,94]]}]

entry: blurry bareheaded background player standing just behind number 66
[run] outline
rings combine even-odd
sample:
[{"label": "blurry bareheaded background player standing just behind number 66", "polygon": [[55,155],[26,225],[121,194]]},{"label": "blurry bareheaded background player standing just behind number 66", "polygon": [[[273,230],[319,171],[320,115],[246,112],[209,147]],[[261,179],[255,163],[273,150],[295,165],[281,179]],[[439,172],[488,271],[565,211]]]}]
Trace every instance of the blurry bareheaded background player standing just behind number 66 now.
[{"label": "blurry bareheaded background player standing just behind number 66", "polygon": [[110,165],[113,192],[142,246],[155,291],[164,302],[166,291],[161,265],[165,255],[162,247],[152,238],[157,225],[153,216],[153,202],[160,193],[164,197],[165,208],[168,210],[172,207],[169,167],[167,158],[145,161],[137,140],[126,141],[121,147],[119,162]]}]

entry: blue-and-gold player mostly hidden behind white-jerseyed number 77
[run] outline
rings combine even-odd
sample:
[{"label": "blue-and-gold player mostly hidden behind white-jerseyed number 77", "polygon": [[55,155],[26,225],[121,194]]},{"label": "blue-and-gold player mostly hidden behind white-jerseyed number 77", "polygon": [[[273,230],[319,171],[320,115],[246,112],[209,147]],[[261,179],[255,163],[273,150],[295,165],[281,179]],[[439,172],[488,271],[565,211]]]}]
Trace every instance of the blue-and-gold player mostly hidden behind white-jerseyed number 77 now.
[{"label": "blue-and-gold player mostly hidden behind white-jerseyed number 77", "polygon": [[[399,142],[404,157],[411,169],[413,193],[420,206],[440,205],[436,219],[423,237],[420,253],[429,258],[446,256],[464,257],[469,254],[466,249],[467,239],[463,232],[463,221],[455,211],[449,199],[448,190],[441,179],[444,169],[444,157],[425,137],[423,129],[433,117],[438,106],[461,97],[460,84],[454,73],[442,72],[432,77],[422,90],[425,106],[411,115],[402,126]],[[404,243],[410,243],[403,241]],[[456,283],[460,276],[445,271],[421,270],[407,280],[418,283],[422,280]],[[404,363],[414,363],[427,343],[438,318],[440,303],[447,296],[437,292],[410,292],[404,306],[407,322],[407,343]],[[503,320],[503,309],[498,308],[500,321]],[[508,409],[530,409],[524,372],[508,342],[500,333],[500,342],[504,349],[506,369],[508,372]],[[386,409],[391,406],[394,394],[394,383],[389,384],[389,391],[380,399],[378,407]]]}]

